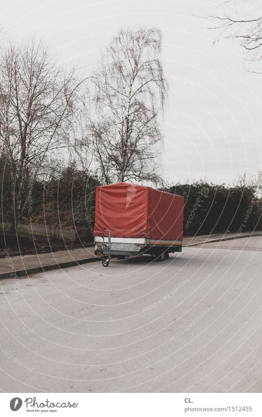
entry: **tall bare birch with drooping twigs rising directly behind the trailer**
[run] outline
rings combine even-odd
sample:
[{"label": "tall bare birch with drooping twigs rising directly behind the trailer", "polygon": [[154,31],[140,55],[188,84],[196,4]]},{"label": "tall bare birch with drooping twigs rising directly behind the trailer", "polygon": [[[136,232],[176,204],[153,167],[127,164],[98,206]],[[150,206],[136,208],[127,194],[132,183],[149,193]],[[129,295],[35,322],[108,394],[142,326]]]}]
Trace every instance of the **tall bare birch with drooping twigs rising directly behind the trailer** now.
[{"label": "tall bare birch with drooping twigs rising directly behind the trailer", "polygon": [[159,182],[158,116],[167,99],[161,44],[157,28],[121,28],[91,78],[95,113],[89,132],[106,184],[132,179]]}]

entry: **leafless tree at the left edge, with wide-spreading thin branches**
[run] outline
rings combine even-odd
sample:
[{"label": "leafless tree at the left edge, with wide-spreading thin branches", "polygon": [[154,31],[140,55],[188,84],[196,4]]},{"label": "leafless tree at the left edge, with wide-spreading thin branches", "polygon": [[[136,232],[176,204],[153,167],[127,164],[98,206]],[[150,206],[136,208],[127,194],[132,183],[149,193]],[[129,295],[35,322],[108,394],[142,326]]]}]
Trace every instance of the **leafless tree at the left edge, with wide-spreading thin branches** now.
[{"label": "leafless tree at the left edge, with wide-spreading thin branches", "polygon": [[73,147],[70,126],[81,84],[41,43],[10,45],[0,57],[0,151],[11,172],[12,233],[48,157]]}]

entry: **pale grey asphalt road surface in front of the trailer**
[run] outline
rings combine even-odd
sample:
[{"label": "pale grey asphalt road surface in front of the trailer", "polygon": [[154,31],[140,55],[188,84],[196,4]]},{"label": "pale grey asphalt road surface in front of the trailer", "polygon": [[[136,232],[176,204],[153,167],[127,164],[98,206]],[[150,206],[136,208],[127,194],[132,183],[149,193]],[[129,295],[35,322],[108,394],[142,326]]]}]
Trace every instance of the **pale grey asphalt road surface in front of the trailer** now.
[{"label": "pale grey asphalt road surface in front of the trailer", "polygon": [[262,392],[262,237],[233,242],[1,280],[0,389]]}]

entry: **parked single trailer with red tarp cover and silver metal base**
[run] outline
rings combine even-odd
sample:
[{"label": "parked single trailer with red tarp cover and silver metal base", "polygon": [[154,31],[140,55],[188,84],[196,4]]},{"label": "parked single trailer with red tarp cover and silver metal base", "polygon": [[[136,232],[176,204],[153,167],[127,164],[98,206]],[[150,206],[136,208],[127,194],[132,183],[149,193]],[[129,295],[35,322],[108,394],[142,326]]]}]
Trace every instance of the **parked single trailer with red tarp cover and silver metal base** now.
[{"label": "parked single trailer with red tarp cover and silver metal base", "polygon": [[95,254],[110,259],[150,254],[163,261],[181,252],[184,197],[141,185],[117,183],[96,188]]}]

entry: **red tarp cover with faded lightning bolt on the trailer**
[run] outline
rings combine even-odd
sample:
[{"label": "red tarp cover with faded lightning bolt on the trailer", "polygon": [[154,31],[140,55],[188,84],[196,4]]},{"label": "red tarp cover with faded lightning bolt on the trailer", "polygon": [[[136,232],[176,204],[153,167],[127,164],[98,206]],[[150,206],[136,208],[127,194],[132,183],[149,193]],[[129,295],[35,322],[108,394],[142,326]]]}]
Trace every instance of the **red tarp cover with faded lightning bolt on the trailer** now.
[{"label": "red tarp cover with faded lightning bolt on the trailer", "polygon": [[118,183],[96,188],[94,236],[183,239],[184,197]]}]

